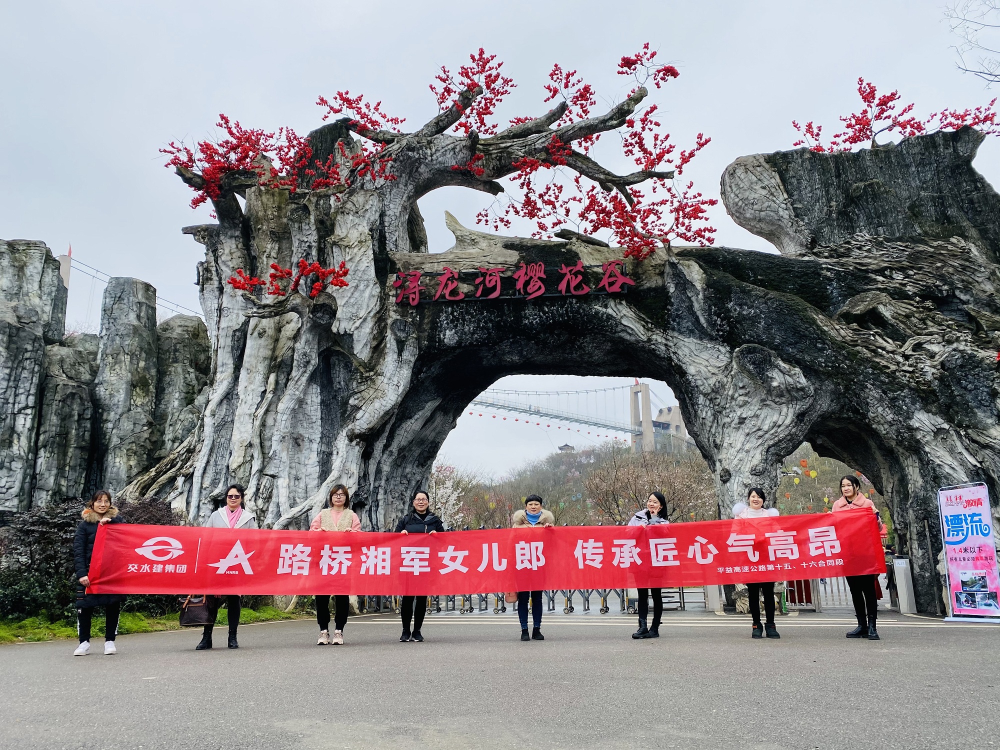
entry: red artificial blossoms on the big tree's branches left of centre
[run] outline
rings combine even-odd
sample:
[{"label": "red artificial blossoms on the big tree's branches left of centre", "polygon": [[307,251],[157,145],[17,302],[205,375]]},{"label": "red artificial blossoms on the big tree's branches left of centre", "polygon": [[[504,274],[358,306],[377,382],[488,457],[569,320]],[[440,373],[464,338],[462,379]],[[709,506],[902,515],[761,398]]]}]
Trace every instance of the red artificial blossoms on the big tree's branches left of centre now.
[{"label": "red artificial blossoms on the big tree's branches left of centre", "polygon": [[[617,73],[632,76],[639,86],[651,82],[661,88],[679,73],[673,65],[656,63],[656,56],[656,51],[650,50],[648,43],[644,44],[634,55],[621,58]],[[436,84],[430,86],[439,110],[457,111],[459,116],[454,131],[470,136],[474,146],[468,161],[451,169],[468,172],[477,179],[489,179],[486,156],[478,149],[478,136],[497,134],[498,125],[492,118],[498,105],[515,86],[511,78],[503,75],[502,67],[496,55],[489,55],[480,48],[469,55],[469,62],[460,66],[457,73],[442,67]],[[551,124],[552,128],[566,127],[592,117],[596,92],[575,70],[556,64],[548,78],[544,101],[559,99],[562,107],[561,116]],[[633,89],[632,94],[637,90]],[[326,108],[323,119],[344,115],[350,129],[360,136],[354,142],[340,141],[323,163],[313,158],[308,139],[298,136],[291,128],[280,128],[277,133],[248,130],[220,115],[218,126],[225,132],[221,141],[202,141],[193,148],[171,143],[163,149],[170,156],[167,166],[194,173],[195,177],[191,177],[182,172],[196,191],[192,207],[209,199],[217,200],[223,189],[223,178],[238,171],[256,175],[261,187],[285,188],[290,192],[298,189],[303,178],[308,178],[311,189],[339,188],[335,193],[359,182],[378,185],[397,178],[392,171],[392,158],[386,154],[392,153],[387,151],[389,145],[404,135],[399,130],[404,122],[402,118],[386,114],[381,102],[367,102],[363,96],[351,95],[349,91],[338,91],[331,99],[321,96],[317,104]],[[590,132],[573,138],[571,143],[563,143],[555,130],[548,136],[544,136],[543,131],[541,151],[536,146],[511,165],[516,171],[510,179],[517,191],[513,196],[504,195],[506,204],[495,203],[480,212],[477,222],[499,229],[510,227],[515,217],[523,218],[534,223],[535,236],[550,234],[566,225],[573,225],[587,234],[606,230],[625,248],[626,256],[637,259],[645,258],[657,247],[669,245],[673,240],[712,244],[715,230],[708,225],[707,214],[717,201],[705,198],[690,182],[676,184],[673,179],[673,175],[683,174],[687,164],[711,139],[699,133],[693,147],[678,150],[670,134],[664,132],[657,115],[657,105],[647,106],[634,112],[619,128],[622,152],[639,169],[622,177],[612,175],[590,160],[600,132]],[[984,121],[987,116],[980,112],[950,111],[938,115],[942,123]],[[510,124],[515,126],[532,119],[517,117],[511,119]],[[818,135],[818,129],[816,133]],[[502,173],[509,174],[509,170]],[[643,185],[642,189],[637,187],[639,184]],[[316,282],[319,287],[314,284],[314,288],[323,288],[328,282],[312,266],[309,268],[308,274],[300,268],[296,276],[291,269],[272,267],[267,282],[268,294],[285,294],[286,279],[292,280],[290,289],[297,290],[302,276],[312,274],[320,277]],[[242,272],[230,279],[230,283],[243,290],[264,285],[260,279]]]}]

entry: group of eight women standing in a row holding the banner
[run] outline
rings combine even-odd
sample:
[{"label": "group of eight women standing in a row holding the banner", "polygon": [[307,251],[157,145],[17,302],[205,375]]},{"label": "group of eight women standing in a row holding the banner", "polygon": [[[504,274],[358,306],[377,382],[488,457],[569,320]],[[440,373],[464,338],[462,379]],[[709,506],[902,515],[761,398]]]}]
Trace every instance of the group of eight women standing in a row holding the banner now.
[{"label": "group of eight women standing in a row holding the banner", "polygon": [[[874,513],[878,519],[879,530],[884,535],[885,526],[879,517],[878,510],[871,500],[861,494],[861,486],[854,476],[845,476],[840,483],[842,496],[833,504],[834,513],[856,512]],[[230,485],[225,494],[225,504],[218,508],[208,519],[207,526],[230,529],[256,529],[257,520],[254,514],[245,507],[245,490],[238,484]],[[775,508],[767,508],[764,490],[755,487],[747,495],[747,502],[739,503],[733,508],[734,518],[762,518],[776,516]],[[74,562],[76,566],[77,586],[77,629],[79,646],[74,656],[85,656],[90,652],[91,619],[96,607],[105,610],[104,653],[114,654],[115,635],[118,630],[118,616],[121,603],[125,597],[120,594],[88,594],[86,592],[90,580],[87,577],[90,569],[90,558],[94,547],[97,529],[105,523],[122,523],[123,519],[118,509],[112,505],[111,495],[104,490],[94,494],[82,512],[82,520],[76,529],[73,543]],[[652,526],[669,523],[664,496],[659,492],[651,492],[646,501],[645,510],[640,510],[629,521],[630,526]],[[525,499],[524,510],[514,514],[513,526],[523,528],[528,526],[548,527],[555,524],[552,513],[543,507],[542,498],[529,495]],[[359,532],[361,520],[350,507],[350,491],[343,484],[334,485],[330,490],[328,507],[316,515],[309,526],[310,531],[318,532]],[[396,525],[400,534],[437,534],[444,531],[444,523],[430,509],[430,497],[423,490],[417,491],[410,503],[410,509]],[[858,618],[858,627],[847,633],[848,638],[867,638],[879,640],[876,629],[876,604],[874,575],[848,576],[847,583],[851,590],[854,610]],[[747,584],[750,614],[753,618],[751,637],[780,638],[775,627],[774,582]],[[761,596],[763,595],[763,596]],[[507,595],[513,599],[515,593]],[[635,639],[659,638],[660,624],[663,619],[663,599],[661,589],[639,589],[639,629],[632,634]],[[648,623],[649,599],[653,600],[653,621]],[[761,623],[760,600],[764,601],[765,621]],[[316,621],[319,625],[319,640],[317,645],[342,645],[344,643],[344,626],[350,608],[349,597],[336,595],[333,597],[333,635],[330,635],[330,597],[316,596]],[[542,635],[542,592],[516,592],[517,615],[521,624],[522,641],[543,641]],[[528,612],[532,619],[532,629],[528,630]],[[229,626],[229,648],[239,648],[237,628],[240,621],[241,601],[239,596],[210,596],[208,599],[209,623],[204,626],[201,642],[195,647],[203,651],[212,648],[212,632],[222,604],[226,605],[227,624]],[[421,627],[424,614],[427,611],[426,596],[404,596],[400,605],[403,632],[399,637],[401,643],[420,643],[424,640]]]}]

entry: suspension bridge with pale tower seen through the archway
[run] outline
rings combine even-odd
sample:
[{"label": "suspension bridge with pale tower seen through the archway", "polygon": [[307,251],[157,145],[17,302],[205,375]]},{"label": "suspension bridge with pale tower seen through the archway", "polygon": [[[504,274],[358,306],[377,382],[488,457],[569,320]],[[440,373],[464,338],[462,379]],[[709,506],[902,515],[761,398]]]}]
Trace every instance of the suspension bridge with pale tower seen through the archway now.
[{"label": "suspension bridge with pale tower seen through the archway", "polygon": [[[653,402],[657,411],[653,411]],[[693,447],[675,405],[652,391],[648,383],[564,391],[523,391],[491,388],[470,404],[470,416],[513,414],[515,422],[552,427],[566,425],[567,432],[618,439],[627,436],[632,449],[677,452]],[[482,410],[482,411],[480,411]],[[508,417],[503,416],[503,419]],[[563,425],[557,425],[562,429]],[[586,429],[591,428],[591,429]],[[617,434],[613,434],[617,433]]]}]

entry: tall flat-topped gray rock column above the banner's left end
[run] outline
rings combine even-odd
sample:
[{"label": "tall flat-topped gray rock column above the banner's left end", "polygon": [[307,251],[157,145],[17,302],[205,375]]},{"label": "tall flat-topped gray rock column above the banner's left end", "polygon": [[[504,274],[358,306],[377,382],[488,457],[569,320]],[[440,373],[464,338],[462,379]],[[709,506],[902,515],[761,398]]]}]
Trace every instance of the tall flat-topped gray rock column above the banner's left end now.
[{"label": "tall flat-topped gray rock column above the banner's left end", "polygon": [[94,380],[96,483],[112,493],[149,466],[156,452],[156,341],[156,289],[113,277],[104,290]]}]

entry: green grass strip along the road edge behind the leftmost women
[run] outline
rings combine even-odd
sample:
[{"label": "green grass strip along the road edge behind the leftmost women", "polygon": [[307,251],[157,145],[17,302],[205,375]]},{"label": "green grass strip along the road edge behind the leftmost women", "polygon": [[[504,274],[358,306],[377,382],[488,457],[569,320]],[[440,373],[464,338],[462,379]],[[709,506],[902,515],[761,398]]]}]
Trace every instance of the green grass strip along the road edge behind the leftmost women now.
[{"label": "green grass strip along the road edge behind the leftmost women", "polygon": [[[268,622],[272,620],[297,620],[301,614],[283,612],[274,607],[240,610],[240,624],[252,622]],[[163,630],[179,630],[177,613],[152,617],[141,612],[122,612],[118,620],[118,634],[156,633]],[[221,612],[217,620],[225,625],[226,614]],[[97,638],[104,637],[104,618],[95,617],[91,624],[91,633]],[[45,617],[29,617],[27,620],[0,620],[0,644],[32,643],[38,641],[57,641],[76,638],[76,622],[59,620],[49,622]]]}]

